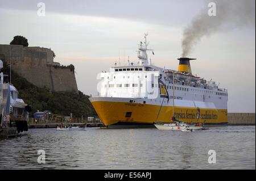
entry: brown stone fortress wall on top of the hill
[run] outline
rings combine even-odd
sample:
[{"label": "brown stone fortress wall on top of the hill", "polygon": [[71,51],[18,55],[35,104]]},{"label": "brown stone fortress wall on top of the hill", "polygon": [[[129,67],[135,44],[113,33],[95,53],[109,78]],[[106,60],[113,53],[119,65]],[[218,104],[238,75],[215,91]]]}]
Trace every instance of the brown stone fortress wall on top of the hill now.
[{"label": "brown stone fortress wall on top of the hill", "polygon": [[0,60],[11,63],[15,73],[35,86],[51,91],[78,92],[75,70],[53,61],[53,51],[41,47],[0,45]]}]

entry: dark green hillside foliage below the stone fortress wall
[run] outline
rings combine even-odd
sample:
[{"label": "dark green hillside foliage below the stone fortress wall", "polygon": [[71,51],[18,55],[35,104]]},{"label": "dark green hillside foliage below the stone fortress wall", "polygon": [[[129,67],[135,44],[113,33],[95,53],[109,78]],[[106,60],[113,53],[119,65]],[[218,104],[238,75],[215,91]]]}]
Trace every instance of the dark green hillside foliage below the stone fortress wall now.
[{"label": "dark green hillside foliage below the stone fortress wall", "polygon": [[[3,61],[4,74],[10,75],[10,68]],[[9,77],[5,77],[5,82]],[[81,91],[75,92],[51,92],[47,87],[36,87],[25,78],[11,71],[11,83],[19,91],[19,98],[32,107],[33,112],[52,111],[58,115],[73,114],[73,117],[96,116],[97,113],[89,101],[89,96]]]}]

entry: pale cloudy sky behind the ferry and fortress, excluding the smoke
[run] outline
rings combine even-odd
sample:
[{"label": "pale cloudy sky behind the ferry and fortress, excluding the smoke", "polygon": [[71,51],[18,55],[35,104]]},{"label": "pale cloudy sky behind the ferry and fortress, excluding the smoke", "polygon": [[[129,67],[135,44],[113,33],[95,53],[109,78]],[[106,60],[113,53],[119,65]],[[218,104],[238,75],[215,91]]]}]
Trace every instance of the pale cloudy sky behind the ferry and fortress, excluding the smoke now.
[{"label": "pale cloudy sky behind the ferry and fortress, excluding the smoke", "polygon": [[[39,2],[45,16],[38,16]],[[97,95],[97,74],[119,58],[123,64],[128,57],[137,62],[145,32],[155,53],[152,62],[177,70],[183,30],[205,6],[204,0],[0,0],[0,44],[22,35],[31,47],[51,48],[54,61],[75,65],[79,90]],[[255,112],[255,27],[204,36],[189,57],[197,58],[191,62],[193,74],[228,89],[229,112]]]}]

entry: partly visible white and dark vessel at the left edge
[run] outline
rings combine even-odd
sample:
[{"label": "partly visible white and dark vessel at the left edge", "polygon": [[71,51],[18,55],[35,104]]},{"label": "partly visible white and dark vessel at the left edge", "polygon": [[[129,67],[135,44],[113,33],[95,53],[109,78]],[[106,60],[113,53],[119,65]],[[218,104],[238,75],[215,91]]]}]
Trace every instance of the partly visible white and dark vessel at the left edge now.
[{"label": "partly visible white and dark vessel at the left edge", "polygon": [[[0,60],[0,70],[3,62]],[[18,133],[28,131],[28,106],[22,99],[18,98],[18,91],[9,82],[4,81],[1,72],[0,80],[0,138],[15,137]]]}]

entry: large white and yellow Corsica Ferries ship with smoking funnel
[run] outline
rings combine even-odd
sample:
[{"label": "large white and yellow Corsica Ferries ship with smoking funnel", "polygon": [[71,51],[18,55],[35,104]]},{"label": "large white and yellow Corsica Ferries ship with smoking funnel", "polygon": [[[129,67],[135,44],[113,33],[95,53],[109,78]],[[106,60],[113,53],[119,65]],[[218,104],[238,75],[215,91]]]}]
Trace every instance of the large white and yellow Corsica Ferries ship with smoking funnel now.
[{"label": "large white and yellow Corsica Ferries ship with smoking funnel", "polygon": [[226,124],[228,91],[193,75],[190,61],[195,59],[179,58],[178,71],[152,65],[147,34],[144,39],[138,64],[128,60],[127,65],[115,64],[100,74],[99,96],[89,99],[101,121],[106,126],[170,123],[174,115],[184,123]]}]

